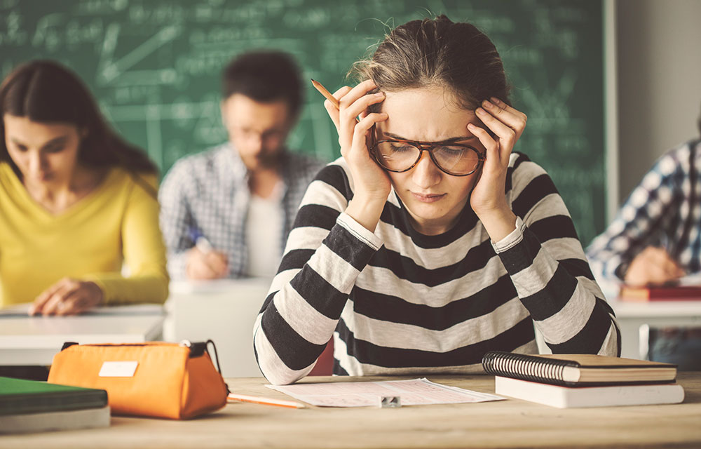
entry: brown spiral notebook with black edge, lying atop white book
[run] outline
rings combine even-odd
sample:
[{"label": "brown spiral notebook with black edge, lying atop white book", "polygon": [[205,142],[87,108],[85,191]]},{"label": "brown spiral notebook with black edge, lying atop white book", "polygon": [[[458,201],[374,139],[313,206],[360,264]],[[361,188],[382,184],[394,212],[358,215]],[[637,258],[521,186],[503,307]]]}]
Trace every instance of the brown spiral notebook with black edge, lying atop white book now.
[{"label": "brown spiral notebook with black edge, lying atop white book", "polygon": [[676,365],[594,354],[515,354],[489,351],[488,374],[568,387],[674,382]]}]

